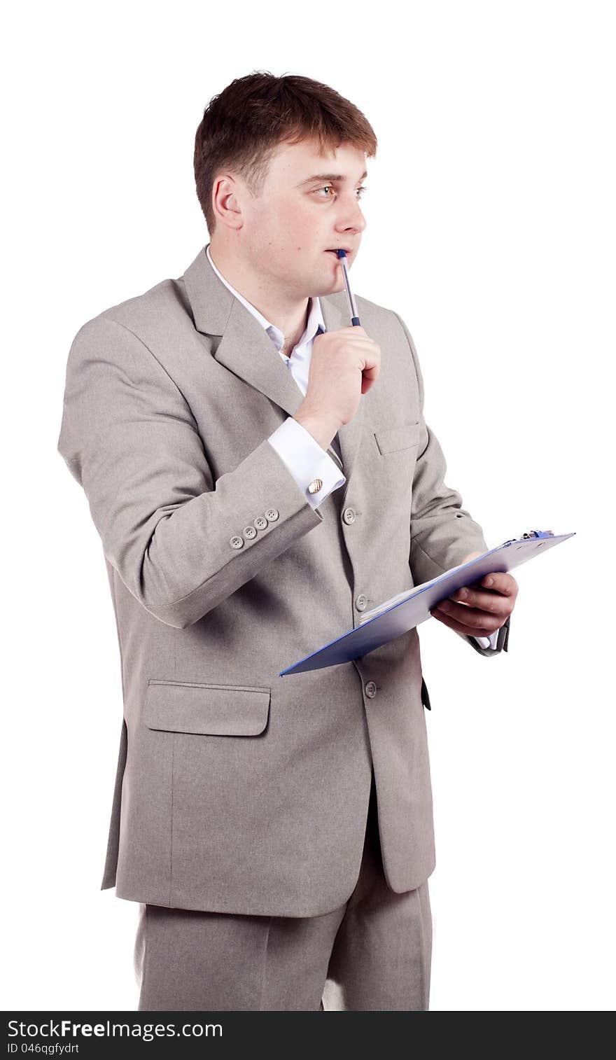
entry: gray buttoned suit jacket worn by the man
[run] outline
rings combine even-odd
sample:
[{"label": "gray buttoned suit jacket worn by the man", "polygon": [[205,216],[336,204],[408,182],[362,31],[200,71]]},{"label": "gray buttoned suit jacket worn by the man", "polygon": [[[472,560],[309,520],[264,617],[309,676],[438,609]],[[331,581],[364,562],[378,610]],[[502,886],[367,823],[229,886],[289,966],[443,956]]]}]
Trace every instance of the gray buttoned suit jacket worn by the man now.
[{"label": "gray buttoned suit jacket worn by the man", "polygon": [[[406,325],[357,306],[381,374],[338,435],[347,481],[318,510],[267,441],[303,395],[205,247],[72,342],[58,450],[117,619],[124,711],[102,887],[120,898],[330,912],[357,880],[372,765],[389,886],[435,867],[417,630],[279,676],[488,547],[443,481]],[[321,307],[328,331],[348,326],[344,292]]]}]

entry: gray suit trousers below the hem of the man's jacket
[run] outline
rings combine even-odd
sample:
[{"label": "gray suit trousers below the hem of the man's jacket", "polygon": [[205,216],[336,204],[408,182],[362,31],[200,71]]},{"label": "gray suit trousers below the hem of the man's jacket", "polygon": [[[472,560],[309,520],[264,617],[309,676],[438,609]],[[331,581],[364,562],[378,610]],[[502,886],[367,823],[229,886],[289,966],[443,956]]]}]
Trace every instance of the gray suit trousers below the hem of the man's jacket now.
[{"label": "gray suit trousers below the hem of the man's jacket", "polygon": [[424,1011],[433,922],[426,880],[392,891],[383,872],[374,774],[359,877],[316,917],[140,905],[140,1010]]}]

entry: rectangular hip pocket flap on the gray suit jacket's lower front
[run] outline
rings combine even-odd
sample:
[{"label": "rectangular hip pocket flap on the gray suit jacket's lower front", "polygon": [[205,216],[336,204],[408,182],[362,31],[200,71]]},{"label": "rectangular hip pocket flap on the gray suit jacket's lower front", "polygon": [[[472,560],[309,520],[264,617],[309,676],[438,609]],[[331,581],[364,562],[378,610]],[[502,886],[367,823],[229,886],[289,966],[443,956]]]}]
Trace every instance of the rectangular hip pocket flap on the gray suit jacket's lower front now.
[{"label": "rectangular hip pocket flap on the gray suit jacket's lower front", "polygon": [[269,714],[271,689],[248,685],[147,682],[144,721],[168,732],[257,736]]}]

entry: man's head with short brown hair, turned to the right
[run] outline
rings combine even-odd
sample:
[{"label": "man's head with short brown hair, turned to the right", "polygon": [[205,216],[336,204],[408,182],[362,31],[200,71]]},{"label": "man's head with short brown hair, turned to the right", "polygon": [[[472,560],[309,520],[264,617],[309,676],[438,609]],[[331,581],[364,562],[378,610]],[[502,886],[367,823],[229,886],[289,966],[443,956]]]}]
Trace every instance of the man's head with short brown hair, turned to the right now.
[{"label": "man's head with short brown hair, turned to the right", "polygon": [[310,77],[256,72],[204,112],[194,170],[213,258],[292,302],[344,289],[335,248],[355,260],[359,189],[376,137],[364,114]]}]

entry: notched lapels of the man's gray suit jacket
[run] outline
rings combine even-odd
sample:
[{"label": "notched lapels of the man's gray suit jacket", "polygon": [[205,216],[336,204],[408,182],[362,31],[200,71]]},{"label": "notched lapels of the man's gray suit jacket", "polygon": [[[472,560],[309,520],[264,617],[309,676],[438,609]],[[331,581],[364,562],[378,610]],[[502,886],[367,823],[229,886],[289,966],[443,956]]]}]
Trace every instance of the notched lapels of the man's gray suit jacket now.
[{"label": "notched lapels of the man's gray suit jacket", "polygon": [[[295,416],[303,393],[286,368],[267,332],[256,317],[221,282],[211,267],[203,247],[182,276],[193,319],[204,335],[219,335],[221,341],[212,356],[239,378],[254,387],[270,401]],[[328,331],[349,326],[345,292],[320,297],[321,312]],[[364,402],[359,401],[353,419],[338,431],[342,470],[349,482],[362,438]],[[328,453],[338,458],[331,446]]]}]

